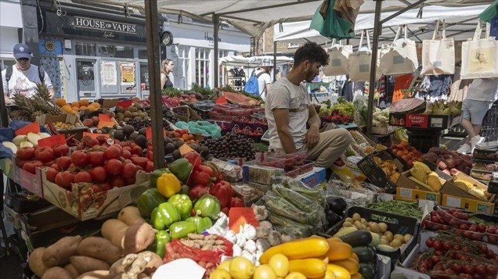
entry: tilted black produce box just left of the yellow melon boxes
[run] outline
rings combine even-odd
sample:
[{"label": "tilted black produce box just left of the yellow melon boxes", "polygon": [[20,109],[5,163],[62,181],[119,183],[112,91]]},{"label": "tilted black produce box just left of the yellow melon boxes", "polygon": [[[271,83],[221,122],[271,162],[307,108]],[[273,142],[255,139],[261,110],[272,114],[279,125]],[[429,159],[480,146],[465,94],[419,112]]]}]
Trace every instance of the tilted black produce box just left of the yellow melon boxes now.
[{"label": "tilted black produce box just left of the yellow melon boxes", "polygon": [[409,167],[406,163],[400,161],[390,150],[382,150],[368,155],[357,163],[358,168],[368,177],[368,180],[377,187],[386,191],[386,193],[394,193],[396,191],[396,184],[389,180],[386,173],[375,163],[373,157],[379,157],[383,161],[392,160],[396,165],[397,170],[404,172]]}]

